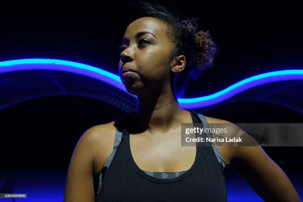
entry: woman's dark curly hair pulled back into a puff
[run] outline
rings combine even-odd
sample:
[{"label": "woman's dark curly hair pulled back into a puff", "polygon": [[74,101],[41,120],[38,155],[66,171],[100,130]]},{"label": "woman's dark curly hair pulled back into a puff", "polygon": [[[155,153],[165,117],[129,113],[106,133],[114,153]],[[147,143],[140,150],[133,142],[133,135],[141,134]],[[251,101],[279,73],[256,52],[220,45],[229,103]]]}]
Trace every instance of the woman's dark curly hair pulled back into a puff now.
[{"label": "woman's dark curly hair pulled back into a puff", "polygon": [[198,30],[197,17],[181,16],[158,3],[138,1],[132,3],[132,6],[137,8],[137,14],[131,21],[142,17],[154,17],[168,25],[166,34],[175,45],[170,52],[170,59],[180,55],[186,58],[186,67],[176,81],[177,96],[183,97],[190,79],[197,80],[203,70],[213,66],[218,52],[215,41],[209,31]]}]

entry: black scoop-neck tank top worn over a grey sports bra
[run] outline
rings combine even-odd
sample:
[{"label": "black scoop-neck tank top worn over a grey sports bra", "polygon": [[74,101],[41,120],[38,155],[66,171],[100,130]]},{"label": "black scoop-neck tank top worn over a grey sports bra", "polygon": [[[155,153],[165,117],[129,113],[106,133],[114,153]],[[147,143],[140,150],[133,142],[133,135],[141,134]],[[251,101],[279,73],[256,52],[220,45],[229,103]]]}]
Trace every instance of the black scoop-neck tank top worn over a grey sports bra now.
[{"label": "black scoop-neck tank top worn over a grey sports bra", "polygon": [[[188,111],[193,123],[203,124],[195,112]],[[223,171],[211,146],[196,146],[195,161],[182,175],[160,179],[137,166],[130,150],[129,134],[126,126],[112,162],[102,176],[96,201],[227,201]],[[205,133],[202,136],[207,137]]]}]

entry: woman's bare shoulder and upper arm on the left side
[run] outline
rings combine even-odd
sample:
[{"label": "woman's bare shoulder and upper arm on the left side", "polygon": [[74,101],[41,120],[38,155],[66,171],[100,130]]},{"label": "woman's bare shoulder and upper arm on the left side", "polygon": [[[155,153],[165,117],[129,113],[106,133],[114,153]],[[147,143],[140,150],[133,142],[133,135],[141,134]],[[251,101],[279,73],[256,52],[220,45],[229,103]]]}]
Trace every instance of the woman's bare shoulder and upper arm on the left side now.
[{"label": "woman's bare shoulder and upper arm on the left side", "polygon": [[106,155],[112,150],[113,124],[93,126],[78,140],[68,167],[64,202],[95,201],[97,181],[93,173],[96,163],[105,163]]}]

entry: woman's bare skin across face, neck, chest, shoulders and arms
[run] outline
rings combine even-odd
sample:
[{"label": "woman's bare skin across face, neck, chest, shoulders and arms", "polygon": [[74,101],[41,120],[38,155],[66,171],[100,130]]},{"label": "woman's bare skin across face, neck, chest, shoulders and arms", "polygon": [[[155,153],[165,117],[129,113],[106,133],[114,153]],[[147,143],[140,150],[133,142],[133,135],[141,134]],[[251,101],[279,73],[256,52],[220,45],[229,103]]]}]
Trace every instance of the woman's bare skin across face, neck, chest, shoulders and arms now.
[{"label": "woman's bare skin across face, neck, chest, shoulders and arms", "polygon": [[[125,88],[138,97],[133,123],[141,127],[130,128],[132,156],[140,169],[151,172],[188,170],[196,156],[195,147],[181,146],[181,123],[192,123],[192,119],[187,110],[180,108],[174,86],[185,68],[186,58],[169,58],[175,44],[167,36],[167,28],[164,22],[151,17],[132,22],[125,31],[119,62]],[[122,76],[123,68],[136,72]],[[206,119],[208,123],[230,123]],[[115,131],[115,122],[111,122],[94,126],[82,135],[68,168],[65,202],[95,201],[99,173],[112,152]],[[301,201],[288,177],[260,146],[217,146],[217,149],[225,163],[263,200]]]}]

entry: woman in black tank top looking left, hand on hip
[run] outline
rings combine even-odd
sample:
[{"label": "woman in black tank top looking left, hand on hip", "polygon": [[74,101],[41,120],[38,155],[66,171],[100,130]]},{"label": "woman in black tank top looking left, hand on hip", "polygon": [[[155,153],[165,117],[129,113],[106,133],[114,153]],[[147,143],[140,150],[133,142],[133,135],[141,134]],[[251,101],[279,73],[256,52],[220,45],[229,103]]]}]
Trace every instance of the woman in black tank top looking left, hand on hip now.
[{"label": "woman in black tank top looking left, hand on hip", "polygon": [[260,146],[181,146],[181,123],[230,123],[181,109],[177,99],[188,79],[212,65],[216,46],[197,30],[196,19],[144,2],[140,8],[125,31],[119,62],[137,111],[83,134],[64,201],[225,201],[225,166],[263,200],[300,201]]}]

